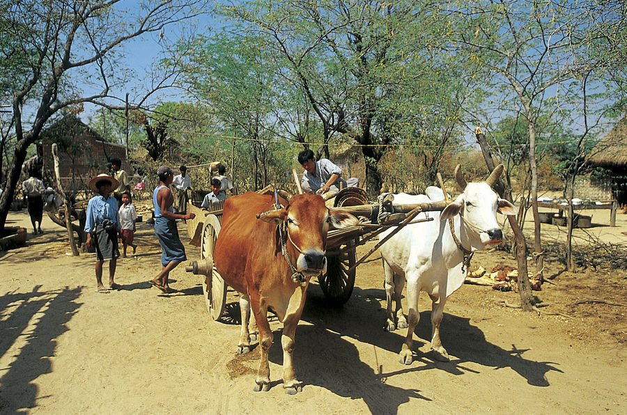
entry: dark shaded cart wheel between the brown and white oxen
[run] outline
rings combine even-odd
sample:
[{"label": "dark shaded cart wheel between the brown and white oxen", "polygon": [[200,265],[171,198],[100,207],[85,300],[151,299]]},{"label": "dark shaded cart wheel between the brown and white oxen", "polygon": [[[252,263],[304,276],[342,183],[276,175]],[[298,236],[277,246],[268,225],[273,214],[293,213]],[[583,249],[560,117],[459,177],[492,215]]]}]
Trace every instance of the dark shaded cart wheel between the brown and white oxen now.
[{"label": "dark shaded cart wheel between the brown and white oxen", "polygon": [[[355,241],[351,240],[340,246],[353,246]],[[350,299],[355,286],[355,269],[348,271],[355,265],[355,249],[341,253],[339,255],[327,256],[327,273],[318,277],[318,283],[325,293],[325,297],[336,306],[341,306]]]}]

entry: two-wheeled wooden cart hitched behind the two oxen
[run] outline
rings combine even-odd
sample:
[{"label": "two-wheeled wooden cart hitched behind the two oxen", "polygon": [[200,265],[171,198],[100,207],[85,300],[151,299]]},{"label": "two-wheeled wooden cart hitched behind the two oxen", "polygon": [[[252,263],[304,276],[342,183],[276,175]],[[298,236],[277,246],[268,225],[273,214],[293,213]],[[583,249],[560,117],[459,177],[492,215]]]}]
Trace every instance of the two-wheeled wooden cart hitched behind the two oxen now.
[{"label": "two-wheeled wooden cart hitched behind the two oxen", "polygon": [[[338,196],[341,195],[339,194]],[[420,203],[418,205],[393,205],[392,201],[383,202],[382,204],[362,202],[362,204],[355,205],[342,205],[340,202],[335,203],[340,206],[332,207],[332,209],[346,210],[363,219],[356,226],[330,230],[327,234],[327,273],[318,277],[318,283],[325,297],[332,304],[341,305],[350,299],[355,286],[355,269],[357,265],[362,263],[392,235],[381,240],[358,261],[355,256],[357,246],[372,240],[373,237],[376,237],[387,227],[402,228],[405,224],[412,221],[419,212],[442,210],[447,205],[444,201]],[[385,211],[385,218],[379,214],[380,210]],[[220,232],[222,205],[217,205],[207,211],[197,208],[192,203],[188,203],[187,212],[196,214],[194,219],[187,221],[187,230],[189,237],[192,238],[190,243],[200,247],[201,258],[193,261],[191,265],[185,267],[185,270],[204,277],[202,283],[203,297],[211,317],[214,320],[218,320],[226,305],[226,283],[224,283],[222,276],[213,266],[213,249]],[[425,220],[432,219],[421,219],[419,221]]]}]

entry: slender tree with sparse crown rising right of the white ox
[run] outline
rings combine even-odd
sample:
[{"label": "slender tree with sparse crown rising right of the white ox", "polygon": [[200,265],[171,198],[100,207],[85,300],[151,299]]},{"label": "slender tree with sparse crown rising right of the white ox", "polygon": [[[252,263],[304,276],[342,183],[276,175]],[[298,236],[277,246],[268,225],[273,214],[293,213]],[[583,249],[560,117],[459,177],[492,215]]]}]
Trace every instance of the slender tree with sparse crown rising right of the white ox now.
[{"label": "slender tree with sparse crown rising right of the white ox", "polygon": [[[542,274],[544,267],[537,202],[538,120],[549,107],[557,109],[568,97],[574,79],[600,65],[597,56],[587,52],[607,33],[620,30],[615,23],[624,19],[621,7],[620,2],[488,0],[472,2],[457,11],[469,24],[460,25],[459,45],[471,61],[485,68],[482,83],[492,81],[493,88],[489,89],[499,95],[509,90],[510,102],[516,102],[517,107],[513,111],[527,121],[536,274]],[[617,56],[605,58],[613,61]]]}]

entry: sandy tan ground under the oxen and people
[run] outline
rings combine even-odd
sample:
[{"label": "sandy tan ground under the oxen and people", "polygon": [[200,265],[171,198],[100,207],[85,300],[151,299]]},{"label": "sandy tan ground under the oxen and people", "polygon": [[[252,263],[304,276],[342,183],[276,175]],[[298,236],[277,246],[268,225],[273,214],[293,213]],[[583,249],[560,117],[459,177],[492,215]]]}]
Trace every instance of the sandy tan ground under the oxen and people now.
[{"label": "sandy tan ground under the oxen and people", "polygon": [[[594,215],[594,232],[624,243],[627,215],[618,215],[617,228]],[[9,219],[31,232],[25,210]],[[226,318],[215,322],[200,277],[183,265],[171,274],[178,292],[151,288],[146,281],[160,268],[160,249],[148,224],[138,224],[137,257],[118,261],[122,288],[109,295],[95,292],[95,256],[68,255],[65,230],[47,217],[42,228],[27,246],[0,252],[3,414],[627,413],[627,307],[573,305],[587,298],[625,304],[624,271],[570,274],[548,265],[552,284],[536,292],[550,304],[542,315],[505,308],[500,301],[516,302],[513,292],[463,286],[442,322],[449,363],[428,354],[430,304],[423,298],[415,361],[404,366],[398,352],[405,329],[382,330],[376,253],[357,269],[345,306],[328,306],[317,283],[310,286],[295,351],[304,389],[288,396],[280,380],[281,324],[272,320],[272,388],[256,393],[258,348],[235,354],[237,297],[229,291]],[[180,230],[186,235],[183,224]],[[187,256],[199,258],[198,249],[188,245]],[[474,257],[474,265],[497,263],[515,265],[499,251]]]}]

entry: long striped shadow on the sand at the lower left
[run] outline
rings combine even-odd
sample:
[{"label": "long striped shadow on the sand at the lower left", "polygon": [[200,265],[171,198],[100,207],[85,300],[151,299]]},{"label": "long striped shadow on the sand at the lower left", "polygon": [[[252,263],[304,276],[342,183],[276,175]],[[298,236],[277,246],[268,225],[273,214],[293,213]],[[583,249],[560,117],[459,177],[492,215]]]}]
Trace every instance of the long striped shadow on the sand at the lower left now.
[{"label": "long striped shadow on the sand at the lower left", "polygon": [[76,302],[81,288],[47,292],[40,288],[37,285],[32,292],[7,292],[0,297],[0,356],[15,353],[8,367],[0,368],[3,414],[36,407],[38,387],[32,382],[50,372],[49,357],[55,355],[56,338],[68,331],[66,324],[82,306]]}]

